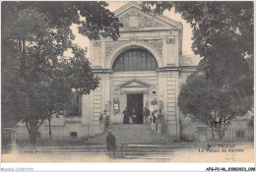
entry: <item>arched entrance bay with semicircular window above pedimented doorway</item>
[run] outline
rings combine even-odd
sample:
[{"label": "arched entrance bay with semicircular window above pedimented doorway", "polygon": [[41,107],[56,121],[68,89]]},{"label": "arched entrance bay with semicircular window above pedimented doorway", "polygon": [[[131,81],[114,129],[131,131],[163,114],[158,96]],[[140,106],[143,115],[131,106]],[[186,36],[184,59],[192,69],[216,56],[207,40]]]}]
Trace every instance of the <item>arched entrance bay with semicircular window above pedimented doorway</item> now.
[{"label": "arched entrance bay with semicircular window above pedimented doorway", "polygon": [[[152,93],[147,82],[150,83],[152,74],[157,75],[158,68],[159,65],[154,55],[142,47],[132,47],[121,52],[113,62],[112,79],[119,80],[119,82],[127,80],[118,86],[121,92],[119,97],[115,96],[115,94],[118,95],[115,92],[113,96],[114,99],[120,99],[120,113],[127,107],[133,124],[143,124],[143,109],[146,104],[149,104],[149,94]],[[120,78],[117,79],[117,77]],[[122,123],[129,122],[124,120]]]}]

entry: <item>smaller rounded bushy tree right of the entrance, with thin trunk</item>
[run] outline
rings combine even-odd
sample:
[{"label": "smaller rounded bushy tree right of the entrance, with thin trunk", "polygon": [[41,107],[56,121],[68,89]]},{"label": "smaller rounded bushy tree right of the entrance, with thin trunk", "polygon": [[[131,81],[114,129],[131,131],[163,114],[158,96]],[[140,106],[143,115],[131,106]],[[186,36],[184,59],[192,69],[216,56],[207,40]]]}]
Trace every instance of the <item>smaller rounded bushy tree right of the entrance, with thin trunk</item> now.
[{"label": "smaller rounded bushy tree right of the entrance, with thin trunk", "polygon": [[244,115],[250,104],[244,106],[247,100],[243,96],[212,82],[204,73],[190,75],[180,88],[178,107],[182,114],[209,126],[222,140],[231,120]]}]

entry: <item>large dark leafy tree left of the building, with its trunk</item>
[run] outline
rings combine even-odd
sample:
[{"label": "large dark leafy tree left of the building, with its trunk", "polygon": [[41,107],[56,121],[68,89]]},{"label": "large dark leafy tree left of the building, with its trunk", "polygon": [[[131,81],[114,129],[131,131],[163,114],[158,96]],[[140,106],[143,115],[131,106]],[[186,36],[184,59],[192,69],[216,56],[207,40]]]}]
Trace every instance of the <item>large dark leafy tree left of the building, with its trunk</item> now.
[{"label": "large dark leafy tree left of the building, with its trunk", "polygon": [[[90,93],[98,85],[85,50],[72,44],[70,26],[81,24],[80,32],[90,38],[117,39],[121,24],[106,6],[104,2],[2,3],[2,116],[16,122],[23,119],[31,143],[42,122],[63,111],[73,91]],[[68,48],[75,57],[60,60]]]}]

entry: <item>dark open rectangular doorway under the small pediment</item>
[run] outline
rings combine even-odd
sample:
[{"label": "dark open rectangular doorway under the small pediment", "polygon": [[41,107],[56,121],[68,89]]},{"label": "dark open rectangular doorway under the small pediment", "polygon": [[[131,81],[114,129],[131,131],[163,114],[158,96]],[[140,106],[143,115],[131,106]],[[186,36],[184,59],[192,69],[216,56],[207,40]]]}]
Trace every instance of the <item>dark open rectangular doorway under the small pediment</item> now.
[{"label": "dark open rectangular doorway under the small pediment", "polygon": [[127,108],[129,114],[135,110],[135,124],[143,124],[143,93],[127,93]]}]

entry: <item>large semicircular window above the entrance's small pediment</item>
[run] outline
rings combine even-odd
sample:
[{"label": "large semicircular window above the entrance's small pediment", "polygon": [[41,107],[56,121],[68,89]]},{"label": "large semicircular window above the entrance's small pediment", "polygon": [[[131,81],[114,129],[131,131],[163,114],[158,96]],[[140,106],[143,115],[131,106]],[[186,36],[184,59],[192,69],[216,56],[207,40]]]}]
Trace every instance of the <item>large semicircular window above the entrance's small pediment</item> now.
[{"label": "large semicircular window above the entrance's small pediment", "polygon": [[156,71],[158,63],[153,55],[144,49],[129,49],[121,53],[113,64],[114,72]]}]

